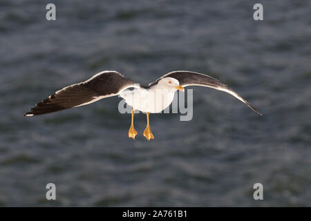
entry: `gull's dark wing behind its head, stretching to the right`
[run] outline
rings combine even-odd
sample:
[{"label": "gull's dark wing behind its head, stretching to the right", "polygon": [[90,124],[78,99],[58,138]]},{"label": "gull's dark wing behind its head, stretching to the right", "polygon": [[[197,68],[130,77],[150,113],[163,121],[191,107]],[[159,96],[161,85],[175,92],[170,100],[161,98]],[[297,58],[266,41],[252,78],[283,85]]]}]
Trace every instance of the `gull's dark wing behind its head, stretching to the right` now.
[{"label": "gull's dark wing behind its head, stretching to the right", "polygon": [[[230,95],[233,95],[237,99],[241,100],[241,102],[247,104],[249,108],[251,108],[253,111],[258,113],[258,115],[262,115],[259,113],[259,111],[256,110],[252,105],[250,105],[241,95],[238,95],[234,90],[229,88],[227,85],[221,83],[218,79],[215,79],[214,77],[210,77],[209,75],[203,75],[200,73],[195,73],[191,71],[186,70],[177,70],[173,71],[171,73],[167,73],[166,75],[163,75],[160,77],[160,79],[164,77],[173,77],[179,81],[179,84],[181,86],[205,86],[209,88],[214,88],[216,90],[222,90],[226,93],[229,93]],[[153,86],[158,83],[160,79],[157,79],[155,82],[149,84],[149,86]]]}]

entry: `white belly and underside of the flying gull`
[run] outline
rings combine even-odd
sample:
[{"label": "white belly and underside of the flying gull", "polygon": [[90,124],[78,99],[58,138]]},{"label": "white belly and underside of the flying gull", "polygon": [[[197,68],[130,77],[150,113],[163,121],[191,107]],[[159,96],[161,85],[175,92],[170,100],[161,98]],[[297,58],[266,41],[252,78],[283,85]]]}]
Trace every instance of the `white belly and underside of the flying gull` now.
[{"label": "white belly and underside of the flying gull", "polygon": [[134,110],[159,113],[173,102],[174,92],[171,90],[134,89],[124,90],[120,97]]}]

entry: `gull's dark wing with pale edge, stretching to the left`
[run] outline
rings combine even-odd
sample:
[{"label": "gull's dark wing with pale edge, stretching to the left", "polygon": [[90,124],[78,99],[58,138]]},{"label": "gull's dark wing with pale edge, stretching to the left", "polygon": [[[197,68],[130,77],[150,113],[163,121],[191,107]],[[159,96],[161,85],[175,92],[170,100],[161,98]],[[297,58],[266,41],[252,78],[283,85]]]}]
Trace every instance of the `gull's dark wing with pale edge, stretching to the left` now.
[{"label": "gull's dark wing with pale edge, stretching to the left", "polygon": [[105,97],[118,95],[122,90],[134,86],[134,81],[116,71],[106,70],[79,84],[58,90],[54,95],[39,102],[24,116],[43,115],[83,106]]}]

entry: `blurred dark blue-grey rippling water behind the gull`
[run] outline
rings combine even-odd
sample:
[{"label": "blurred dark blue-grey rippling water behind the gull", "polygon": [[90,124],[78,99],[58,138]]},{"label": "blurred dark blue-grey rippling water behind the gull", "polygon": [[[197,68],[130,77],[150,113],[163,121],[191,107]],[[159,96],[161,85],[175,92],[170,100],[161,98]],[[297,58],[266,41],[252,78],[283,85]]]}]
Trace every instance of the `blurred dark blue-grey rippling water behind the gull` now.
[{"label": "blurred dark blue-grey rippling water behind the gull", "polygon": [[[47,3],[0,1],[1,206],[311,206],[311,1],[54,0],[56,21]],[[264,116],[193,87],[193,119],[151,115],[151,142],[143,114],[127,137],[118,97],[23,117],[102,70],[206,73]]]}]

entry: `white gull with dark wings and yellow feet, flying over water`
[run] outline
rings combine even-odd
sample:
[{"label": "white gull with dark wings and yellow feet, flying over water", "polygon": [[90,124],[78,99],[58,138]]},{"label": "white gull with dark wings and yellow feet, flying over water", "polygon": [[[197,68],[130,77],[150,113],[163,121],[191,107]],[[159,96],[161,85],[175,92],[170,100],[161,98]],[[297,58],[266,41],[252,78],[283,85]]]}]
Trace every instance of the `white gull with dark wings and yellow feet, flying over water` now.
[{"label": "white gull with dark wings and yellow feet, flying over water", "polygon": [[[62,88],[62,90],[57,90],[53,95],[50,95],[47,99],[31,108],[24,116],[44,115],[63,111],[68,108],[91,104],[106,97],[120,95],[120,97],[125,99],[126,104],[132,107],[129,137],[135,140],[135,136],[138,135],[134,128],[134,113],[135,110],[138,110],[147,114],[147,126],[143,135],[147,140],[151,140],[154,137],[149,126],[149,113],[163,111],[173,102],[176,90],[185,91],[184,88],[186,86],[204,86],[224,91],[247,104],[258,115],[262,115],[241,95],[238,95],[227,85],[209,75],[177,70],[163,75],[150,83],[149,86],[140,86],[114,70],[105,70],[79,84],[73,84]],[[133,90],[128,90],[129,88],[133,88]]]}]

